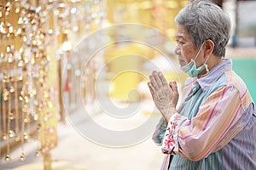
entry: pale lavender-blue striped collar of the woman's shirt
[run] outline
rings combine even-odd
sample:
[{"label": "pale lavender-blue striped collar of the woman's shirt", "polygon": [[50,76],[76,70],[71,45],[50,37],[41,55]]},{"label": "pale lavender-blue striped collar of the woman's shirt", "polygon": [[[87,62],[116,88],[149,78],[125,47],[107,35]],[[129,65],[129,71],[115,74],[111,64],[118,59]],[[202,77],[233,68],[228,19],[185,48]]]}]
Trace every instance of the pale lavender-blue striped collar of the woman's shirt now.
[{"label": "pale lavender-blue striped collar of the woman's shirt", "polygon": [[222,62],[212,68],[207,76],[198,79],[195,78],[195,81],[198,82],[203,91],[206,91],[212,86],[212,83],[216,82],[218,78],[224,74],[225,71],[230,70],[232,70],[232,60],[223,59]]}]

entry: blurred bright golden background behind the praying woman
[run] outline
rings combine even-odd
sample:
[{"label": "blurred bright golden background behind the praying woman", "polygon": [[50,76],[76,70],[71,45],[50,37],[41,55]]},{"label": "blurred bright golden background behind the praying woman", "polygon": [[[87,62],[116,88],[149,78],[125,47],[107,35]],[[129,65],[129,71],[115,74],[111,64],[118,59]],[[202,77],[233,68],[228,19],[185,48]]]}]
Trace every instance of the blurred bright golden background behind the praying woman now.
[{"label": "blurred bright golden background behind the praying woman", "polygon": [[[214,2],[232,22],[225,58],[255,101],[256,1]],[[163,71],[183,88],[174,18],[186,3],[1,0],[0,169],[160,169],[148,75]],[[94,131],[93,122],[120,133],[150,123],[130,142]]]}]

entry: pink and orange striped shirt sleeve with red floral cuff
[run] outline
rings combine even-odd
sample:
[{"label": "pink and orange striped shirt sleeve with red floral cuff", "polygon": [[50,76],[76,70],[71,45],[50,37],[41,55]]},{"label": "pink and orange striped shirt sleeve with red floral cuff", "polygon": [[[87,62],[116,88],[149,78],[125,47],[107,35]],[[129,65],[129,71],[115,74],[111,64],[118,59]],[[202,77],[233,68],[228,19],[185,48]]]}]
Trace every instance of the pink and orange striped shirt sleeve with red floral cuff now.
[{"label": "pink and orange striped shirt sleeve with red floral cuff", "polygon": [[[201,103],[197,115],[191,120],[178,113],[171,117],[162,151],[199,161],[216,151],[216,148],[224,147],[224,144],[241,132],[239,120],[243,112],[236,88],[218,88]],[[229,138],[224,138],[225,136]]]}]

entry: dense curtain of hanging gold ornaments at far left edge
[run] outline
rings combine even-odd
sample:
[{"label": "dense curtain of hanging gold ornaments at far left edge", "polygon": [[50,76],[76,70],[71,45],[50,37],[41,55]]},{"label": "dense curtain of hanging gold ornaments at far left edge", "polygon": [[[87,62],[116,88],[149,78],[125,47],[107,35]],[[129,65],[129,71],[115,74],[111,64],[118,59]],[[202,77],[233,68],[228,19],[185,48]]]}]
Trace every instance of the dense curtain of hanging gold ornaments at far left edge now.
[{"label": "dense curtain of hanging gold ornaments at far left edge", "polygon": [[[37,133],[40,152],[45,154],[56,145],[56,133],[49,137],[40,134],[44,131],[39,117],[48,116],[48,121],[56,119],[55,109],[49,103],[52,96],[47,83],[49,75],[49,54],[46,54],[48,28],[48,3],[43,1],[2,1],[0,3],[0,96],[1,131],[0,142],[4,144],[1,154],[4,160],[11,161],[11,148],[20,144],[20,161],[26,160],[24,144]],[[46,95],[49,94],[49,95]],[[52,128],[56,123],[50,125]],[[43,142],[49,138],[50,147]]]}]

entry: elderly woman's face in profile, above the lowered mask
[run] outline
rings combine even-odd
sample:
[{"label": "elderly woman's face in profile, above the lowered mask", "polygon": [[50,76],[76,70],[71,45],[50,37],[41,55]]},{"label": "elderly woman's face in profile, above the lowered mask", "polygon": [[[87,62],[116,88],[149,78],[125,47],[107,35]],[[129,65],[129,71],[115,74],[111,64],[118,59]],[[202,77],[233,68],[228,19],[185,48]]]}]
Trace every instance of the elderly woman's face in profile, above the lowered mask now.
[{"label": "elderly woman's face in profile, above the lowered mask", "polygon": [[[183,66],[188,64],[191,59],[195,59],[199,48],[194,48],[194,42],[191,40],[189,32],[184,26],[177,25],[176,40],[177,47],[175,48],[175,54],[178,56],[179,65]],[[201,50],[200,54],[198,54],[198,57],[195,60],[197,67],[203,65],[204,63],[202,51],[203,50]]]}]

